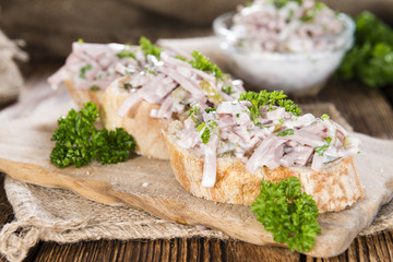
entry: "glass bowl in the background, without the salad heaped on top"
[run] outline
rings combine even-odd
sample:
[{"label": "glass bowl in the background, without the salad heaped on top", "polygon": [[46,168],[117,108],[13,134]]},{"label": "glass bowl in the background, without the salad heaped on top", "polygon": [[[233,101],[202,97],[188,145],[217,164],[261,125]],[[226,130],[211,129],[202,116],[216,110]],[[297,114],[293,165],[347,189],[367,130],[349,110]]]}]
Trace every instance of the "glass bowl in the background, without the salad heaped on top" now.
[{"label": "glass bowl in the background, without the salad heaped on top", "polygon": [[[344,23],[342,33],[325,37],[336,45],[326,51],[266,52],[247,48],[254,39],[230,29],[235,12],[225,13],[213,22],[219,47],[229,60],[234,75],[252,90],[283,90],[297,95],[314,95],[340,66],[354,43],[355,23],[346,14],[337,19]],[[247,43],[247,45],[242,45]]]}]

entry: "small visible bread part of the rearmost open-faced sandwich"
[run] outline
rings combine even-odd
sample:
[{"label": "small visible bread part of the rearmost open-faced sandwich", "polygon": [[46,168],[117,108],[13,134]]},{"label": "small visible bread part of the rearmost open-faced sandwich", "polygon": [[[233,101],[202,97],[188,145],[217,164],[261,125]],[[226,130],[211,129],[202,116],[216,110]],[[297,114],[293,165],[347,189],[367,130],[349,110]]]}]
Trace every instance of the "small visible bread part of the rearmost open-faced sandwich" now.
[{"label": "small visible bread part of the rearmost open-faced sandwich", "polygon": [[72,99],[76,104],[78,108],[83,108],[83,105],[87,102],[93,102],[99,108],[100,100],[103,98],[104,92],[103,90],[91,91],[91,90],[79,90],[74,88],[72,81],[64,80],[64,85],[69,91]]}]

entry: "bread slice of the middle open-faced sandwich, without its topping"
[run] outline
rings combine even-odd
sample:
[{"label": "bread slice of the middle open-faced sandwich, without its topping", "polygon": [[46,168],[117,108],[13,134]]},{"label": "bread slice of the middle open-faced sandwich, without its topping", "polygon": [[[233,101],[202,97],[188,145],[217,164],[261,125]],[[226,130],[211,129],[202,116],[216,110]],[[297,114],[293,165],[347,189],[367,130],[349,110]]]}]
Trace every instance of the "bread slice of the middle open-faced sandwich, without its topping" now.
[{"label": "bread slice of the middle open-faced sandwich, without its topping", "polygon": [[169,159],[162,130],[166,129],[174,119],[150,117],[151,110],[158,109],[159,105],[142,100],[132,107],[123,118],[117,115],[122,103],[132,95],[123,88],[123,84],[128,80],[128,76],[118,79],[105,91],[99,109],[104,127],[108,130],[123,128],[132,134],[136,141],[136,153],[147,157]]}]

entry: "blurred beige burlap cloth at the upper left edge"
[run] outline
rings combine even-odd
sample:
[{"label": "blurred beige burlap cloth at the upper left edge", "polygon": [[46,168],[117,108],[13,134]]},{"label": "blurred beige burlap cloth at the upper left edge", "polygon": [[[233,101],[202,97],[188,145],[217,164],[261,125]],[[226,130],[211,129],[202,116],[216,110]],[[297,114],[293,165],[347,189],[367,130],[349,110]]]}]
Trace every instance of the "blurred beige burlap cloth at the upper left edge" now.
[{"label": "blurred beige burlap cloth at the upper left edge", "polygon": [[25,61],[27,55],[0,31],[0,105],[15,100],[23,85],[14,59]]}]

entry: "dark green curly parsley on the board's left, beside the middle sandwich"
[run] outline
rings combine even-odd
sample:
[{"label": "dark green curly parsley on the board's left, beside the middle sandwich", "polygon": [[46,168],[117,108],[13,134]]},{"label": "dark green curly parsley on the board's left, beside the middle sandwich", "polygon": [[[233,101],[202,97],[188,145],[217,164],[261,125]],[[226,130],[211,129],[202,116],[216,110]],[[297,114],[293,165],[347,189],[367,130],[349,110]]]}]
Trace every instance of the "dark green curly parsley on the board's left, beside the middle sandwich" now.
[{"label": "dark green curly parsley on the board's left, beside the middle sandwich", "polygon": [[58,120],[51,140],[56,145],[50,162],[58,167],[81,167],[92,160],[105,164],[124,162],[135,150],[134,139],[123,129],[97,130],[94,126],[98,110],[94,103],[84,104],[80,112],[71,109]]}]

